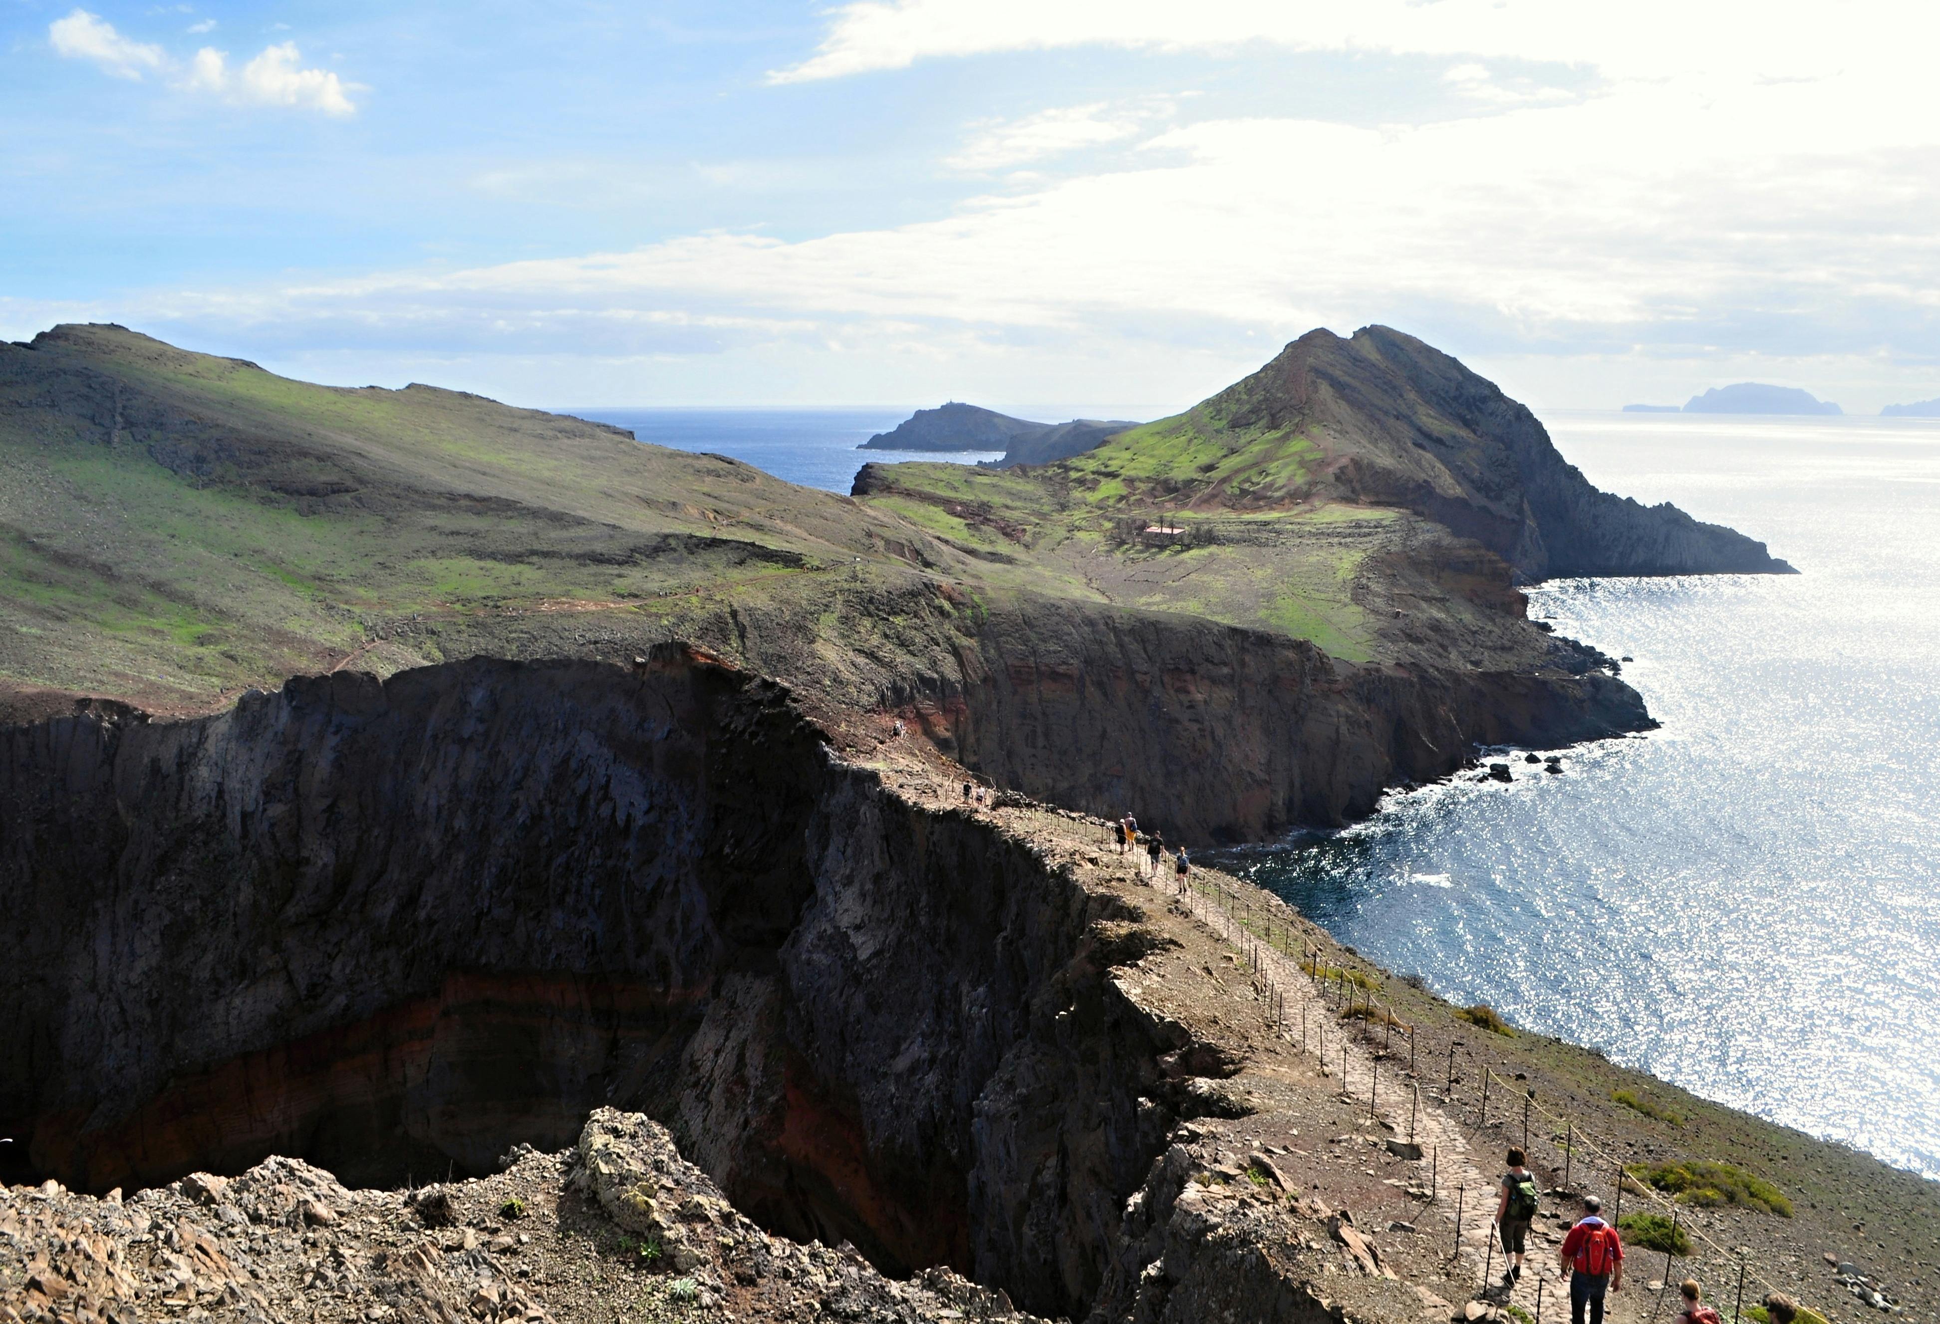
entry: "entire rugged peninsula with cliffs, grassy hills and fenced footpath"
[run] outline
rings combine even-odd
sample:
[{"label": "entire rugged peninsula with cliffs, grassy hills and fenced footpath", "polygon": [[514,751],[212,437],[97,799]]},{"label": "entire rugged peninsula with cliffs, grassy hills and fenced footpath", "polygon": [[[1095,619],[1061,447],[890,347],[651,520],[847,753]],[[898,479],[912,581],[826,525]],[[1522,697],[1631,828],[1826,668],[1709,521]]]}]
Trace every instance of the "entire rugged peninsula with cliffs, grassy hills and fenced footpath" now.
[{"label": "entire rugged peninsula with cliffs, grassy hills and fenced footpath", "polygon": [[0,461],[12,1316],[1533,1318],[1525,1138],[1544,1237],[1711,1165],[1789,1215],[1678,1274],[1932,1308],[1930,1182],[1110,847],[1643,729],[1517,583],[1785,570],[1420,341],[842,498],[60,328]]}]

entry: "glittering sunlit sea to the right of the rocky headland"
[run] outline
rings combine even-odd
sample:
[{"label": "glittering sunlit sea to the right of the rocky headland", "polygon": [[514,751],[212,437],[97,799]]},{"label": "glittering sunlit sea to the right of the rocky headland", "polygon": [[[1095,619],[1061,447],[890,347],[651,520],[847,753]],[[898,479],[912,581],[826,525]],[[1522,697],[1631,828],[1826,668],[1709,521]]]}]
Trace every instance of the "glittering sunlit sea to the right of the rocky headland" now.
[{"label": "glittering sunlit sea to the right of the rocky headland", "polygon": [[1224,863],[1445,996],[1940,1177],[1940,426],[1548,423],[1802,574],[1544,585],[1663,731]]}]

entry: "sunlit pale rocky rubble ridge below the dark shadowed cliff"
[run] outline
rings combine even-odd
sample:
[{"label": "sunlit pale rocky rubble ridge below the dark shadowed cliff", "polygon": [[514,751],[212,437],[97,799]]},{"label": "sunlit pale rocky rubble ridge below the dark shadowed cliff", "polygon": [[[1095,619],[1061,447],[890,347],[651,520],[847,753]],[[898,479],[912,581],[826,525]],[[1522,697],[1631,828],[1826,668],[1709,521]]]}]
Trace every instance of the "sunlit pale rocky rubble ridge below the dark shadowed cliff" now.
[{"label": "sunlit pale rocky rubble ridge below the dark shadowed cliff", "polygon": [[301,1159],[95,1200],[0,1188],[0,1318],[605,1324],[966,1318],[1030,1324],[945,1268],[887,1279],[854,1248],[772,1237],[663,1126],[596,1109],[563,1153],[489,1181],[347,1190]]}]

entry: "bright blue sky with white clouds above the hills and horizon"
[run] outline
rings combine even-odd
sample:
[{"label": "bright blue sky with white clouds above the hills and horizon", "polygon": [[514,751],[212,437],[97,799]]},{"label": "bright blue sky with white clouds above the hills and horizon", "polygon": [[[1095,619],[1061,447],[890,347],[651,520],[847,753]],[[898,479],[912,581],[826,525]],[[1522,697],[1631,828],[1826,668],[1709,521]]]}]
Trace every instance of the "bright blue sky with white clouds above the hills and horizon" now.
[{"label": "bright blue sky with white clouds above the hills and horizon", "polygon": [[1940,6],[0,0],[0,337],[526,405],[1940,395]]}]

